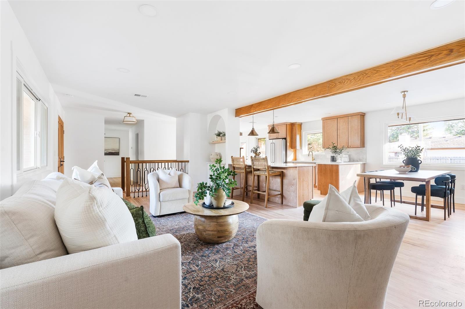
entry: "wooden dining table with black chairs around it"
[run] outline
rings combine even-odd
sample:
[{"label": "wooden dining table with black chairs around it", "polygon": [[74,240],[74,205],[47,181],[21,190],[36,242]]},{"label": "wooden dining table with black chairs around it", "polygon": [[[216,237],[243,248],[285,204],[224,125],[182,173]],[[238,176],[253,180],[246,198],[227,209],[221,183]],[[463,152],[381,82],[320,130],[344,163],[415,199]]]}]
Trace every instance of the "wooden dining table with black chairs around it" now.
[{"label": "wooden dining table with black chairs around it", "polygon": [[[371,178],[380,178],[386,180],[408,180],[408,181],[418,181],[424,182],[426,187],[425,195],[425,206],[426,206],[426,217],[416,216],[409,214],[412,219],[419,219],[430,221],[431,220],[431,207],[444,209],[442,205],[431,205],[431,180],[435,179],[438,176],[451,173],[451,171],[436,171],[436,170],[419,170],[418,172],[408,172],[405,174],[397,172],[395,169],[386,169],[383,171],[376,172],[365,172],[357,174],[359,177],[364,177],[365,181],[365,204],[370,204],[370,179]],[[395,198],[394,198],[395,199]],[[395,200],[400,202],[400,200]],[[411,201],[403,201],[403,204],[415,204]]]}]

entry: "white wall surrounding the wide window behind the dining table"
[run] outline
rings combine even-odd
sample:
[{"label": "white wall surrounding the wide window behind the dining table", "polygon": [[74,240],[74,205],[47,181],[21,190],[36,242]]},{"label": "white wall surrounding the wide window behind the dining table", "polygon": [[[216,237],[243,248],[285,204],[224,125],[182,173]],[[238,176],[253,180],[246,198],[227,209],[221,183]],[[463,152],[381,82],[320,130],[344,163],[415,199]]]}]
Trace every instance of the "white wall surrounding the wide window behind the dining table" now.
[{"label": "white wall surrounding the wide window behind the dining table", "polygon": [[[386,123],[396,122],[395,116],[391,115],[392,109],[368,112],[365,115],[365,147],[366,147],[366,170],[378,170],[392,168],[393,165],[385,165],[383,162],[384,143],[385,143],[385,126]],[[436,120],[442,117],[460,117],[465,115],[465,99],[456,99],[445,102],[428,103],[421,105],[409,106],[409,110],[417,117],[417,120]],[[447,165],[426,165],[421,164],[421,169],[434,169],[441,171],[452,171],[457,175],[455,199],[458,203],[465,203],[465,190],[460,186],[465,184],[465,167],[451,167]],[[402,195],[415,197],[411,193],[412,186],[418,186],[418,182],[405,182],[402,188]],[[396,190],[398,194],[398,191]],[[437,198],[432,198],[438,200]]]}]

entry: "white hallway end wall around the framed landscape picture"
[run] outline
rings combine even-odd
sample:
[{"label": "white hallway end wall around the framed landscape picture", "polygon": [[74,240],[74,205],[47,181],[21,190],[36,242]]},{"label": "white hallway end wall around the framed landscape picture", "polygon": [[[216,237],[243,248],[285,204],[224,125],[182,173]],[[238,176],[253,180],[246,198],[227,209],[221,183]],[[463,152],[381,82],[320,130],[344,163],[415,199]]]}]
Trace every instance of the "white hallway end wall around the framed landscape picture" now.
[{"label": "white hallway end wall around the framed landscape picture", "polygon": [[118,137],[120,139],[120,155],[104,155],[106,177],[121,177],[121,157],[129,156],[129,130],[112,129],[105,126],[105,137]]}]

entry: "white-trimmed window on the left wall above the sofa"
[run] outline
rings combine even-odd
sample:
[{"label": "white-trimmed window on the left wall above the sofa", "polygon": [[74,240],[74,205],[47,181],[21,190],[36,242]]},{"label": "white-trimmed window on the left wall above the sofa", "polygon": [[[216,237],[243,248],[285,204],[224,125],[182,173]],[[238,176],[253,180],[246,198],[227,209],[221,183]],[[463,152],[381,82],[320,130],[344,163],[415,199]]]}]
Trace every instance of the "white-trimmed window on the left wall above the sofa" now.
[{"label": "white-trimmed window on the left wall above the sofa", "polygon": [[18,73],[16,77],[17,164],[27,172],[47,166],[47,107]]}]

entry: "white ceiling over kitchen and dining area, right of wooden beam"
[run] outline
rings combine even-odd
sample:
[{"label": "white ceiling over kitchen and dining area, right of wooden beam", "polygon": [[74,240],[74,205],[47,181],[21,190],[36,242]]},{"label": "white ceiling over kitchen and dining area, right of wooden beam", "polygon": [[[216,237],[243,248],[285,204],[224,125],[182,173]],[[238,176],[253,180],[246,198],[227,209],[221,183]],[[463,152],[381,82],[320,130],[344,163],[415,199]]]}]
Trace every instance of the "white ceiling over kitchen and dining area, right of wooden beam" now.
[{"label": "white ceiling over kitchen and dining area, right of wooden beam", "polygon": [[[275,123],[307,122],[331,115],[394,109],[402,106],[403,90],[408,90],[407,107],[465,97],[465,64],[406,77],[385,84],[289,106],[274,111]],[[457,114],[465,113],[463,110]],[[241,131],[249,131],[252,116],[240,118]],[[254,116],[255,128],[272,122],[272,111]]]}]

